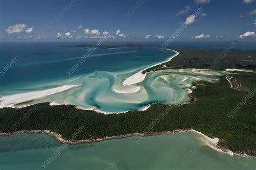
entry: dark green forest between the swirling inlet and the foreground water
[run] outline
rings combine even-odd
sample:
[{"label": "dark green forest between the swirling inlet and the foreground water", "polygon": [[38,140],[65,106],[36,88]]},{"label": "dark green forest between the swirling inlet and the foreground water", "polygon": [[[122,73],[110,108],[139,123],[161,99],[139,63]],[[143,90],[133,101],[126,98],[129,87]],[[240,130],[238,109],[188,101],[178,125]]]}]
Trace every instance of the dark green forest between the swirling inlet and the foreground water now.
[{"label": "dark green forest between the swirling inlet and the foreground water", "polygon": [[[192,93],[196,101],[172,107],[172,110],[153,127],[151,133],[193,128],[210,137],[220,138],[219,146],[222,148],[256,155],[256,96],[252,96],[231,118],[227,116],[256,87],[256,74],[239,72],[232,77],[237,79],[244,90],[231,89],[225,77],[220,79],[219,84],[194,83],[198,87]],[[84,131],[79,133],[76,139],[143,133],[167,107],[169,106],[154,104],[147,111],[109,115],[78,110],[72,105],[50,106],[48,103],[19,109],[2,108],[0,132],[50,130],[68,139],[83,124]],[[28,112],[31,112],[29,116],[26,115]],[[21,121],[23,119],[24,121]],[[12,127],[17,124],[14,130]]]}]

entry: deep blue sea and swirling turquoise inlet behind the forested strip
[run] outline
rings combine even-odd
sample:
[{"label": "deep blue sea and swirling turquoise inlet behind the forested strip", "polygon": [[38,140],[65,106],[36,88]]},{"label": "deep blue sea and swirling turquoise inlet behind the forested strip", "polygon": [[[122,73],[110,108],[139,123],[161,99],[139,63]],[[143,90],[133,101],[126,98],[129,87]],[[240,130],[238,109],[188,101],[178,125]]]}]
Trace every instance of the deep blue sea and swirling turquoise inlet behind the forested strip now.
[{"label": "deep blue sea and swirling turquoise inlet behind the forested strip", "polygon": [[[0,107],[53,102],[104,113],[144,110],[152,103],[190,101],[188,94],[193,81],[217,83],[220,76],[228,74],[225,71],[165,70],[147,73],[142,81],[129,79],[133,74],[177,55],[176,51],[148,47],[98,49],[75,72],[71,71],[70,76],[71,67],[87,51],[85,48],[60,47],[55,43],[4,44],[1,47],[2,60],[8,62],[16,56],[18,61],[0,77]],[[126,79],[128,85],[124,85]],[[63,86],[73,87],[54,90]],[[41,96],[38,96],[38,91]]]}]

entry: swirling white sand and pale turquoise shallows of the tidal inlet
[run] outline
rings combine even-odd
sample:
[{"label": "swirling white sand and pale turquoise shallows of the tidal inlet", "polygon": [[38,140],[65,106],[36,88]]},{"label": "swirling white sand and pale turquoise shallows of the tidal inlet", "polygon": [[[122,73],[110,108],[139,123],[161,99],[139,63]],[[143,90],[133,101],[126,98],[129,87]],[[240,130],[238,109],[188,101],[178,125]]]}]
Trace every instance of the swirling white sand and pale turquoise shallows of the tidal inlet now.
[{"label": "swirling white sand and pale turquoise shallows of the tidal inlet", "polygon": [[120,113],[143,110],[152,103],[182,104],[190,101],[188,94],[191,93],[193,81],[218,83],[219,76],[228,72],[168,69],[146,73],[141,82],[135,79],[135,83],[124,85],[134,74],[138,72],[93,72],[63,81],[62,86],[53,89],[1,97],[1,107],[24,107],[48,101],[53,105],[73,104],[85,110]]}]

